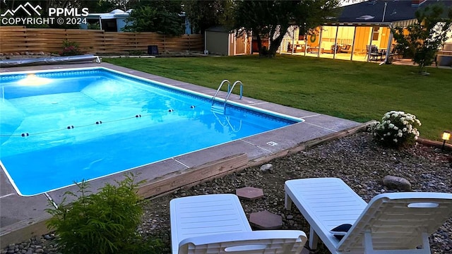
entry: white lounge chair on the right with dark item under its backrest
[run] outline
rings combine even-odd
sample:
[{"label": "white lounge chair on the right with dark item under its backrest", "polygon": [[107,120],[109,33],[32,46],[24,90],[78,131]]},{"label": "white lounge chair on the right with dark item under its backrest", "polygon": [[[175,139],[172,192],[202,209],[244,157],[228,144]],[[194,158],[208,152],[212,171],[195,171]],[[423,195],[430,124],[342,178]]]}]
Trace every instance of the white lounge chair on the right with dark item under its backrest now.
[{"label": "white lounge chair on the right with dark item under its backrest", "polygon": [[[292,202],[309,222],[309,247],[319,238],[333,254],[430,253],[429,235],[452,216],[452,193],[384,193],[367,204],[336,178],[285,182]],[[352,224],[341,240],[331,229]],[[420,248],[422,246],[422,248]]]}]

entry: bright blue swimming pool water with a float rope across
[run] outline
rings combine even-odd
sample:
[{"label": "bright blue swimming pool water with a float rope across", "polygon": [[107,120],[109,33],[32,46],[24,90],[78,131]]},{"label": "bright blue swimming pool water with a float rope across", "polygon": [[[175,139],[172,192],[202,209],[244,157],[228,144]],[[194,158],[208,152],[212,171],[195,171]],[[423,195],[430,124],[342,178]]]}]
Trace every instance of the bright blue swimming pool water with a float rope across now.
[{"label": "bright blue swimming pool water with a float rope across", "polygon": [[[0,159],[36,195],[296,123],[105,68],[0,75]],[[218,105],[222,103],[217,102]]]}]

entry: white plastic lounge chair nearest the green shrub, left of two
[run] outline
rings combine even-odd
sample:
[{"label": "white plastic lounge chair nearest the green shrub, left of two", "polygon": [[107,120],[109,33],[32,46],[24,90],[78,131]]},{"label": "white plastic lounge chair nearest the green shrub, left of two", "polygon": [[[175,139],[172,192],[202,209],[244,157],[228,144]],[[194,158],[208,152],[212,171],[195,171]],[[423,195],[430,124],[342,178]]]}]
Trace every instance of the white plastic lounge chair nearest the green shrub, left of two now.
[{"label": "white plastic lounge chair nearest the green shrub, left of two", "polygon": [[172,253],[301,253],[299,230],[252,231],[237,195],[213,194],[169,202]]}]

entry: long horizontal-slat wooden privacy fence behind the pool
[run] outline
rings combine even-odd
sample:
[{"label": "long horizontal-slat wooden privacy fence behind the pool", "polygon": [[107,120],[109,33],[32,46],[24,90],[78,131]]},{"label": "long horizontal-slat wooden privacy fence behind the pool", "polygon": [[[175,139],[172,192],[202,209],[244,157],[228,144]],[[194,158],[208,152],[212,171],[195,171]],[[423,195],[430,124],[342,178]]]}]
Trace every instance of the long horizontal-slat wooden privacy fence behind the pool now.
[{"label": "long horizontal-slat wooden privacy fence behind the pool", "polygon": [[148,52],[156,45],[159,53],[203,51],[203,35],[172,37],[155,32],[105,32],[104,30],[0,27],[0,53],[50,52],[63,50],[63,41],[77,42],[88,54]]}]

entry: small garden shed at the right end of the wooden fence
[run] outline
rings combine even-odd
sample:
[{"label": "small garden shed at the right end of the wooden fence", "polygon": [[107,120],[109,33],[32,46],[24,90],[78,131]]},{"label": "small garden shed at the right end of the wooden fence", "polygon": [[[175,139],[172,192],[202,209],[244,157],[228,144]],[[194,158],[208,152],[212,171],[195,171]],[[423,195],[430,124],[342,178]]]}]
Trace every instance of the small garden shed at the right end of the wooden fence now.
[{"label": "small garden shed at the right end of the wooden fence", "polygon": [[235,32],[221,26],[206,29],[204,40],[205,52],[208,54],[222,56],[251,54],[251,37],[246,34],[236,37]]}]

